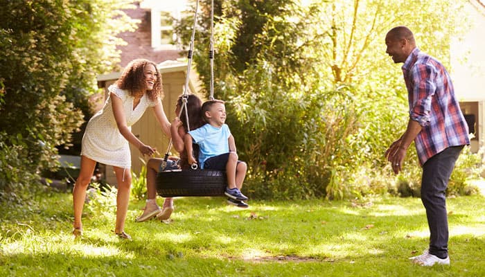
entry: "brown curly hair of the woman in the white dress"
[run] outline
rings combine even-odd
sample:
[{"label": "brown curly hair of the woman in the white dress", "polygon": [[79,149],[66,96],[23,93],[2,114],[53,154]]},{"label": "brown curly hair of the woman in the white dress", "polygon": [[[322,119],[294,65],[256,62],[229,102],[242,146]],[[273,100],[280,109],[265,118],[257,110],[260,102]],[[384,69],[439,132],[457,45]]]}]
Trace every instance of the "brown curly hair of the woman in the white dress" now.
[{"label": "brown curly hair of the woman in the white dress", "polygon": [[[155,84],[153,84],[153,89],[151,91],[143,91],[146,86],[145,66],[147,64],[152,64],[155,66],[155,70],[157,71],[157,79],[155,80]],[[121,77],[116,81],[116,85],[120,89],[130,91],[130,96],[133,96],[137,92],[143,91],[152,101],[157,100],[157,98],[161,98],[164,94],[161,86],[161,74],[157,68],[157,64],[145,59],[132,60],[125,67],[123,73],[121,73]]]}]

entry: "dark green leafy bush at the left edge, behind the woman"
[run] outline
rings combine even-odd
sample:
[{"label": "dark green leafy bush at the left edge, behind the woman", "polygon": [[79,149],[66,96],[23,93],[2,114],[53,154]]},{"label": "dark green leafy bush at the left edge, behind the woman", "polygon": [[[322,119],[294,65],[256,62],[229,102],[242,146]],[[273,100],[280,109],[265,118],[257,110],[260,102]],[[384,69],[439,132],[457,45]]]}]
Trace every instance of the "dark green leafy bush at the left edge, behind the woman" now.
[{"label": "dark green leafy bush at the left edge, behind the woman", "polygon": [[58,166],[56,146],[71,146],[96,74],[118,62],[114,34],[132,26],[118,9],[128,2],[0,1],[0,171],[18,169],[0,190]]}]

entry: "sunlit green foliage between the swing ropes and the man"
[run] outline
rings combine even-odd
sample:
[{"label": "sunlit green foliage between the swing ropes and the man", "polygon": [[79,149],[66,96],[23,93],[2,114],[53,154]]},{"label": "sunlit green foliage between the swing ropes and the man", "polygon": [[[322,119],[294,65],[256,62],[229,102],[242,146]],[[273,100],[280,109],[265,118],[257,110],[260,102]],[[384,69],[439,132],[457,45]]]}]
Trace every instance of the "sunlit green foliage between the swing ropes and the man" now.
[{"label": "sunlit green foliage between the swing ropes and the man", "polygon": [[[206,88],[208,2],[201,3],[194,54]],[[227,123],[249,164],[243,189],[263,198],[333,199],[390,188],[383,156],[408,115],[385,34],[409,26],[421,49],[449,66],[450,37],[468,24],[465,1],[214,2],[214,94],[227,101]],[[188,22],[177,29],[185,42]],[[412,158],[402,175],[408,180],[418,171]]]}]

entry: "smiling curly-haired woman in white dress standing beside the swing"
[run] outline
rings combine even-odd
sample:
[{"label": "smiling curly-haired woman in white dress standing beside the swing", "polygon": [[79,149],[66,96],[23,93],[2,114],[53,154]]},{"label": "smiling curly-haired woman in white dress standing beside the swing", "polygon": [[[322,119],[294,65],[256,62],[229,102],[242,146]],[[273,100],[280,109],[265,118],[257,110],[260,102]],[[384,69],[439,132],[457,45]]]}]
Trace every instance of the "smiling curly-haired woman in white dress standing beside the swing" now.
[{"label": "smiling curly-haired woman in white dress standing beside the swing", "polygon": [[130,235],[125,233],[132,181],[129,143],[143,155],[152,156],[156,151],[132,134],[131,125],[143,116],[148,107],[155,111],[155,117],[167,136],[170,136],[170,122],[161,104],[161,75],[155,62],[133,60],[108,91],[109,96],[103,109],[89,120],[82,137],[80,175],[73,190],[73,235],[76,238],[82,235],[81,216],[86,189],[96,162],[99,162],[113,166],[118,183],[114,233],[119,238],[130,240]]}]

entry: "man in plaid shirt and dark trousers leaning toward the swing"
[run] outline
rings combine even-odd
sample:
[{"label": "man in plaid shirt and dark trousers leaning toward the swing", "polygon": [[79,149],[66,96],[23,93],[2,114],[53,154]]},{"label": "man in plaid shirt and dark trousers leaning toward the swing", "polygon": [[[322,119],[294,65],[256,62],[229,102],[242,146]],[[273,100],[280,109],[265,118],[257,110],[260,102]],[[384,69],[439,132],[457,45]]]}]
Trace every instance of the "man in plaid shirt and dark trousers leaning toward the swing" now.
[{"label": "man in plaid shirt and dark trousers leaning toward the swing", "polygon": [[429,249],[410,259],[423,266],[450,265],[445,190],[461,149],[470,144],[468,125],[450,75],[434,57],[419,51],[411,30],[405,26],[392,28],[385,42],[386,53],[394,63],[404,63],[409,100],[407,129],[385,155],[398,174],[407,148],[414,141],[423,168],[421,201],[430,227]]}]

